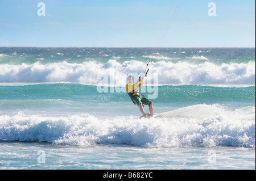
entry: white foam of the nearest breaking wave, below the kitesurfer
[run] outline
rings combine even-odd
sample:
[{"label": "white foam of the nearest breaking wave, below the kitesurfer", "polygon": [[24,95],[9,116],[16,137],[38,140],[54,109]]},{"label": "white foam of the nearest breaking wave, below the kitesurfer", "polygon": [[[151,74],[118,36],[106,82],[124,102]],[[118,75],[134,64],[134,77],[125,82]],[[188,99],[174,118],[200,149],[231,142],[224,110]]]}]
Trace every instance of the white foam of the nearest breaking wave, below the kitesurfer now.
[{"label": "white foam of the nearest breaking wave, below the kitesurfer", "polygon": [[156,148],[246,146],[255,148],[255,107],[228,110],[218,104],[195,105],[141,119],[90,115],[0,116],[1,141],[53,144],[130,144]]}]

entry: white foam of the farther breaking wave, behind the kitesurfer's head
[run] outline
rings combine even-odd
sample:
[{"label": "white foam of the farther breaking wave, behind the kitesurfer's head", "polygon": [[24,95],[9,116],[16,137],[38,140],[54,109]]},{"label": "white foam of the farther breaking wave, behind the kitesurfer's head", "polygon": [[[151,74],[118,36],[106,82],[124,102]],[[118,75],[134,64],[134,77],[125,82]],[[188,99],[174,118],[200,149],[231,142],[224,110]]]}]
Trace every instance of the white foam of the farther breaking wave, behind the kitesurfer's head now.
[{"label": "white foam of the farther breaking wave, behind the kitesurfer's head", "polygon": [[[141,61],[109,60],[106,64],[86,61],[70,64],[66,61],[53,64],[0,65],[0,82],[73,82],[97,85],[98,77],[110,77],[117,85],[126,85],[128,73],[143,74],[145,63]],[[190,64],[188,62],[151,61],[147,82],[159,85],[234,85],[255,86],[255,61],[216,65],[211,62]],[[154,76],[158,76],[158,82]],[[151,76],[152,75],[152,76]],[[145,82],[146,83],[146,82]],[[114,86],[114,85],[109,85]]]}]

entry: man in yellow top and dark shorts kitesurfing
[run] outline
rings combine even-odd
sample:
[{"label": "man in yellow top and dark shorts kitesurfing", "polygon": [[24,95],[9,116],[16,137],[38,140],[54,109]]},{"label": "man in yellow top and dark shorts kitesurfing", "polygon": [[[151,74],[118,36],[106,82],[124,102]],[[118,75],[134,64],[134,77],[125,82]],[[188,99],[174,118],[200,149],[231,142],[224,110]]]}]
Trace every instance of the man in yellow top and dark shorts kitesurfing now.
[{"label": "man in yellow top and dark shorts kitesurfing", "polygon": [[133,103],[139,106],[139,111],[141,111],[143,116],[150,116],[144,112],[143,104],[147,104],[149,106],[148,110],[150,111],[150,114],[153,115],[153,103],[141,94],[139,94],[139,87],[143,86],[143,79],[144,76],[141,79],[139,79],[136,83],[133,83],[133,76],[130,75],[127,78],[128,83],[126,85],[126,92],[127,94],[129,94],[131,100],[133,100]]}]

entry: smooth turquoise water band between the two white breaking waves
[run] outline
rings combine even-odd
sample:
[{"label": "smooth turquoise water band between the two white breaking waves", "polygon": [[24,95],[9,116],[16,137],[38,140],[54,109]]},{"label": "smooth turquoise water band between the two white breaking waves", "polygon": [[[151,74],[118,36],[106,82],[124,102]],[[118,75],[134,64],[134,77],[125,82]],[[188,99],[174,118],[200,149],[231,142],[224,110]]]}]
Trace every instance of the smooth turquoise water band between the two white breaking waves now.
[{"label": "smooth turquoise water band between the two white breaking waves", "polygon": [[[27,110],[56,112],[70,109],[73,112],[108,117],[139,115],[137,107],[131,104],[126,93],[110,92],[113,87],[107,88],[108,92],[99,93],[97,86],[77,83],[0,86],[1,98],[5,98],[0,100],[0,107],[6,112]],[[205,104],[205,106],[218,104],[231,110],[255,106],[253,86],[156,86],[155,89],[158,91],[158,96],[152,101],[158,113],[195,104]],[[148,97],[152,93],[143,92],[143,95]],[[125,107],[125,110],[122,107]]]}]

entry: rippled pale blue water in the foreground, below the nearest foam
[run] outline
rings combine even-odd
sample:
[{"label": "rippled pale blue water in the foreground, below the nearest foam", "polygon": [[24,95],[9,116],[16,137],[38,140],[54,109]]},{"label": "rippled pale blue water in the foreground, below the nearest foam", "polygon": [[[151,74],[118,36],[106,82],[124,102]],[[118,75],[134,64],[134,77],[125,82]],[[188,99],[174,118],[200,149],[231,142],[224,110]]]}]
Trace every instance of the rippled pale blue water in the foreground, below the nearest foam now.
[{"label": "rippled pale blue water in the foreground, below the nearest foam", "polygon": [[[0,149],[1,169],[255,169],[255,149],[241,147],[168,149],[1,142]],[[44,163],[38,162],[42,150]]]}]

